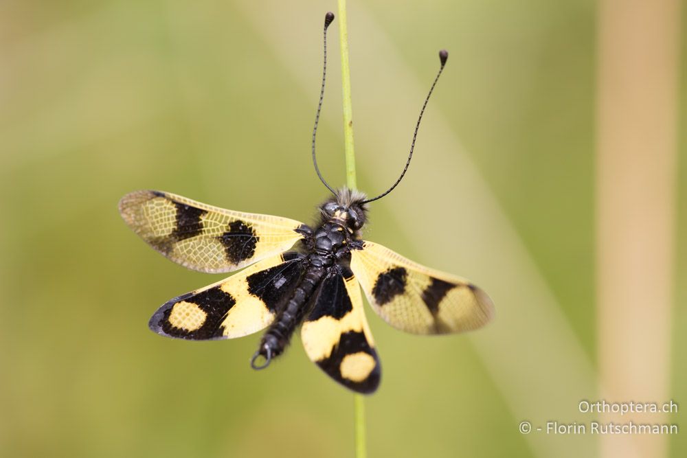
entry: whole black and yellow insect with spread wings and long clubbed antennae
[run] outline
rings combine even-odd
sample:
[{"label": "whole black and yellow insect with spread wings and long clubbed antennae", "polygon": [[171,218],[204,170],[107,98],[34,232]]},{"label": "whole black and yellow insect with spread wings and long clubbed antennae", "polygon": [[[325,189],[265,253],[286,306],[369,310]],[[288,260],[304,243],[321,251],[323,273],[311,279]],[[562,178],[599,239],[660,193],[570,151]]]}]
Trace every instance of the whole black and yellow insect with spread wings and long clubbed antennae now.
[{"label": "whole black and yellow insect with spread wings and long clubbed antennae", "polygon": [[[322,106],[324,74],[313,130]],[[441,68],[448,54],[440,52]],[[423,105],[422,113],[429,100]],[[415,128],[417,135],[420,119]],[[411,147],[407,170],[415,144]],[[344,187],[320,207],[314,228],[302,222],[242,213],[157,191],[120,201],[126,223],[170,260],[196,271],[245,269],[221,282],[175,297],[150,319],[158,334],[191,340],[234,339],[267,328],[251,360],[267,367],[301,326],[308,357],[331,378],[372,393],[381,376],[363,313],[362,286],[372,309],[395,328],[414,334],[447,334],[480,328],[493,316],[491,299],[466,279],[416,264],[379,244],[361,240],[368,203],[375,198]],[[297,249],[289,251],[295,244]]]}]

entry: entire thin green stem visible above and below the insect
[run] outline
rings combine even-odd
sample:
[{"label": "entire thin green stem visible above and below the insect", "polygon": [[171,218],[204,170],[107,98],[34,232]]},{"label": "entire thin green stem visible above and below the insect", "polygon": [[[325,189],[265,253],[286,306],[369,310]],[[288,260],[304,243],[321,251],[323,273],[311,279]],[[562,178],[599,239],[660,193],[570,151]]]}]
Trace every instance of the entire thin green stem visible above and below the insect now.
[{"label": "entire thin green stem visible above and below the insect", "polygon": [[[337,0],[339,4],[339,47],[341,48],[341,96],[343,98],[343,146],[346,153],[346,186],[354,190],[355,152],[353,149],[353,108],[350,98],[350,67],[348,65],[348,28],[346,27],[346,0]],[[353,395],[355,456],[365,458],[365,402],[361,394]]]}]

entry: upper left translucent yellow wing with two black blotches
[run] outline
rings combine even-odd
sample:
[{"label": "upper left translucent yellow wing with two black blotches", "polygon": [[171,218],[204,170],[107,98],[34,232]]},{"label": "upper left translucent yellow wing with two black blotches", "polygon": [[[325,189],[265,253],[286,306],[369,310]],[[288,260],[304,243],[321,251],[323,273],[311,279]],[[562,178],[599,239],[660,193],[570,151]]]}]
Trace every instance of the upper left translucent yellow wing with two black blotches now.
[{"label": "upper left translucent yellow wing with two black blotches", "polygon": [[212,207],[159,191],[120,201],[126,224],[170,260],[195,271],[231,272],[282,253],[303,238],[301,222]]}]

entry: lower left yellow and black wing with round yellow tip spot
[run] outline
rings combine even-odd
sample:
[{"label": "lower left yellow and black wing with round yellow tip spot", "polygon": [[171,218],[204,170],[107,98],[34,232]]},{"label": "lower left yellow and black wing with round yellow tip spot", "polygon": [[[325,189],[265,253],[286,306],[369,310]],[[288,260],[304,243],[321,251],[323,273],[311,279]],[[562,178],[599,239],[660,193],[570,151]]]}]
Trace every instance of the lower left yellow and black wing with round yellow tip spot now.
[{"label": "lower left yellow and black wing with round yellow tip spot", "polygon": [[304,272],[303,255],[268,257],[245,271],[168,301],[150,329],[177,339],[234,339],[266,328]]}]

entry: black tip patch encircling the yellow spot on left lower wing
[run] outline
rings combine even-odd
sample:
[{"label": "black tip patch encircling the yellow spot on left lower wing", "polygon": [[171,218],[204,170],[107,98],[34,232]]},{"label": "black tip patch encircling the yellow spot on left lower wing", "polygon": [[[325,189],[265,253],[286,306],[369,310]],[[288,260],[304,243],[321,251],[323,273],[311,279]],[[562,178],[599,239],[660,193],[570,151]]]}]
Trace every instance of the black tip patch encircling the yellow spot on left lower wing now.
[{"label": "black tip patch encircling the yellow spot on left lower wing", "polygon": [[[224,328],[221,323],[227,316],[227,312],[236,304],[236,299],[229,293],[225,293],[220,286],[214,286],[214,288],[207,289],[196,295],[185,296],[187,295],[175,299],[170,306],[164,310],[159,323],[157,323],[161,330],[169,336],[181,337],[182,339],[205,340],[223,336]],[[170,313],[172,312],[172,308],[174,308],[174,304],[181,301],[196,304],[196,306],[199,306],[199,308],[207,314],[205,322],[197,330],[188,331],[175,328],[169,322]],[[154,325],[155,323],[151,322],[151,324]]]}]

